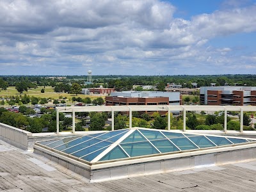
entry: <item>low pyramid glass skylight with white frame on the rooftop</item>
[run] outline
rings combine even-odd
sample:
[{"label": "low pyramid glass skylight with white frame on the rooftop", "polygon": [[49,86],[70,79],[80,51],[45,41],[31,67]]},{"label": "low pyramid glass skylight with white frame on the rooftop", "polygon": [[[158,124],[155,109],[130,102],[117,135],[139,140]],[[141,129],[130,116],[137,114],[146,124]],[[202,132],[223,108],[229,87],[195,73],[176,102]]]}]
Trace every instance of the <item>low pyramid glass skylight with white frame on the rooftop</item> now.
[{"label": "low pyramid glass skylight with white frame on the rooftop", "polygon": [[232,147],[256,140],[186,134],[156,129],[121,129],[38,142],[42,147],[88,163],[143,158],[207,148]]}]

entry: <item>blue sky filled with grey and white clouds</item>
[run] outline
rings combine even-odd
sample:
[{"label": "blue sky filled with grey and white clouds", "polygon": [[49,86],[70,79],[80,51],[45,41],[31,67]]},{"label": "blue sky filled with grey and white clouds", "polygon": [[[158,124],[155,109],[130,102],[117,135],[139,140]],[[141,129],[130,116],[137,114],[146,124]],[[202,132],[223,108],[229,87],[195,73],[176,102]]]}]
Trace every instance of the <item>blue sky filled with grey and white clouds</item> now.
[{"label": "blue sky filled with grey and white clouds", "polygon": [[0,76],[256,74],[256,0],[1,0]]}]

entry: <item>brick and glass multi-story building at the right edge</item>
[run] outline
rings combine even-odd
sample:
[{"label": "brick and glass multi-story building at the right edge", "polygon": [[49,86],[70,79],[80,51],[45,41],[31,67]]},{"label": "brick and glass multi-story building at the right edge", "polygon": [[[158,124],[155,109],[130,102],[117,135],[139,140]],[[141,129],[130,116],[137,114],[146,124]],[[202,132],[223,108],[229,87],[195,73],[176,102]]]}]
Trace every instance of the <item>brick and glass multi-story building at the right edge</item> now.
[{"label": "brick and glass multi-story building at the right edge", "polygon": [[256,105],[255,86],[202,86],[200,104],[217,106]]}]

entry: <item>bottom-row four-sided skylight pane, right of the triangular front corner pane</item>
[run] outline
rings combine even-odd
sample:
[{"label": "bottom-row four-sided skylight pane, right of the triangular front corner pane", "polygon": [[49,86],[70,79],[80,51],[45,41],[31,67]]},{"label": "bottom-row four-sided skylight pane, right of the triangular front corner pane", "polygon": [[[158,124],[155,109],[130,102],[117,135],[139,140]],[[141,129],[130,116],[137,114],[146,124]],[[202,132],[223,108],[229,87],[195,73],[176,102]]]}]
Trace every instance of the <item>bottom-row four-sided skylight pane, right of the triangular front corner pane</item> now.
[{"label": "bottom-row four-sided skylight pane, right of the triangular front corner pane", "polygon": [[156,148],[154,148],[148,141],[121,144],[121,147],[124,148],[125,152],[131,157],[159,154]]}]

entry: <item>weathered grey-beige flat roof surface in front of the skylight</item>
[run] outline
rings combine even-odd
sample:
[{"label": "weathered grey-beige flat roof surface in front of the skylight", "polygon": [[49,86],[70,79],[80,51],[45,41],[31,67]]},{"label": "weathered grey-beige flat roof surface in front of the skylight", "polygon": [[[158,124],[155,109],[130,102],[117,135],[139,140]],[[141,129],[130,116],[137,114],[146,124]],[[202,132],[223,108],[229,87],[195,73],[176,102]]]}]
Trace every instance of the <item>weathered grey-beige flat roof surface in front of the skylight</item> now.
[{"label": "weathered grey-beige flat roof surface in front of the skylight", "polygon": [[88,183],[43,156],[0,140],[0,192],[19,191],[255,191],[256,161]]}]

